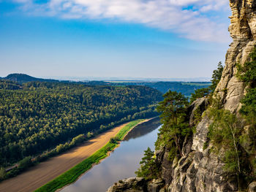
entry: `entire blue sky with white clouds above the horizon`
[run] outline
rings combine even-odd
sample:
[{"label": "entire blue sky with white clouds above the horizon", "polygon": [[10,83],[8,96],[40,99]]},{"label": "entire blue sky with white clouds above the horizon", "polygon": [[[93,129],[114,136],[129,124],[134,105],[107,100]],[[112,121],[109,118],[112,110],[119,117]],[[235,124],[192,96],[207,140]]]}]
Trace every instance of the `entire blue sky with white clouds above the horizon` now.
[{"label": "entire blue sky with white clouds above the horizon", "polygon": [[211,77],[227,0],[0,0],[0,77]]}]

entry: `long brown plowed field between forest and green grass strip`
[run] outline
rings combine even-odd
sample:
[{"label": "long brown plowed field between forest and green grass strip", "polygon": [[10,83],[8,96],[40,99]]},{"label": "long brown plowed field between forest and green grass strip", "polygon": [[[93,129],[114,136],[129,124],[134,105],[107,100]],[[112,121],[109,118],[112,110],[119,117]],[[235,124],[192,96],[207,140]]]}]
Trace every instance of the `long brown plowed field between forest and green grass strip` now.
[{"label": "long brown plowed field between forest and green grass strip", "polygon": [[106,145],[127,123],[100,134],[79,147],[67,151],[59,156],[50,158],[26,172],[0,183],[1,192],[28,192],[45,185],[60,174],[67,172],[76,164],[88,158],[94,152]]}]

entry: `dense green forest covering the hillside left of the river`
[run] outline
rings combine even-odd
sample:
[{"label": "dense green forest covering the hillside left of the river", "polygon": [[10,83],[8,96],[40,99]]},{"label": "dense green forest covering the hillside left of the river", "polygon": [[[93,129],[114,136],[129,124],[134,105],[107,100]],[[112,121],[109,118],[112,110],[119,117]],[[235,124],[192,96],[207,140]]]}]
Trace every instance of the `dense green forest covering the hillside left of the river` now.
[{"label": "dense green forest covering the hillside left of the river", "polygon": [[21,86],[1,80],[0,166],[50,150],[80,134],[90,137],[117,123],[157,115],[154,105],[160,100],[162,93],[145,86],[63,82]]}]

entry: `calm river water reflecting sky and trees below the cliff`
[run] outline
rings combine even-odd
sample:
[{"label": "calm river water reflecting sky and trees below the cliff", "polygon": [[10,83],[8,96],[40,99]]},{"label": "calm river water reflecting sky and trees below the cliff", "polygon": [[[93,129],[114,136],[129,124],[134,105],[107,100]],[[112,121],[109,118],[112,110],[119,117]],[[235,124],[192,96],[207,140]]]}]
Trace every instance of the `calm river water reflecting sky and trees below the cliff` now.
[{"label": "calm river water reflecting sky and trees below the cliff", "polygon": [[159,127],[159,120],[151,120],[137,126],[127,134],[121,145],[108,158],[61,192],[104,192],[118,180],[135,177],[144,150],[147,147],[154,150]]}]

